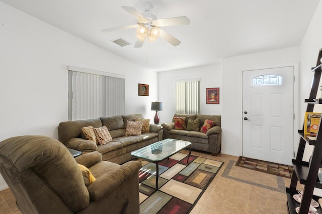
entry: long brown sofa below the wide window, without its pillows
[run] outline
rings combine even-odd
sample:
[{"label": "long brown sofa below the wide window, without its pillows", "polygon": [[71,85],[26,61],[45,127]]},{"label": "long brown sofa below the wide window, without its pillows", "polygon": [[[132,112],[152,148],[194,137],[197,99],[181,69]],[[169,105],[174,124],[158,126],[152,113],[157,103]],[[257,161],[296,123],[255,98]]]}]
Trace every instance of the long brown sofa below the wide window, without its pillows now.
[{"label": "long brown sofa below the wide window, without its pillows", "polygon": [[[103,160],[125,163],[131,160],[132,151],[160,141],[163,137],[163,127],[155,124],[150,124],[149,133],[124,136],[126,121],[134,121],[135,118],[143,118],[143,115],[128,114],[61,122],[58,125],[58,139],[66,147],[82,151],[82,154],[98,151],[103,155]],[[81,129],[90,125],[95,128],[106,126],[113,141],[105,145],[96,145],[93,141],[83,139]]]}]

